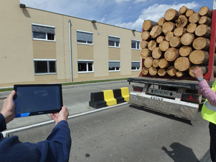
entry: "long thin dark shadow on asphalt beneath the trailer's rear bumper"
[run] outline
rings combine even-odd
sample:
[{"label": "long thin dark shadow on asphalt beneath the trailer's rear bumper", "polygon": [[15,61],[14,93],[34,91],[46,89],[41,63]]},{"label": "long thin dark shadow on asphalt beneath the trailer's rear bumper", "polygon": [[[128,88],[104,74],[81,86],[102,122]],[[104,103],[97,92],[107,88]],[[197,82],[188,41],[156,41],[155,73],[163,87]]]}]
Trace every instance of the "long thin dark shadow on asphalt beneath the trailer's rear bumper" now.
[{"label": "long thin dark shadow on asphalt beneath the trailer's rear bumper", "polygon": [[162,117],[169,118],[169,119],[176,120],[176,121],[180,121],[182,123],[185,123],[185,124],[193,126],[190,120],[178,118],[178,117],[175,117],[174,115],[163,114],[161,112],[149,110],[149,109],[146,109],[145,107],[140,107],[140,106],[135,106],[135,105],[129,105],[129,107],[135,108],[135,109],[141,110],[141,111],[146,111],[146,112],[151,113],[151,114],[160,115]]}]

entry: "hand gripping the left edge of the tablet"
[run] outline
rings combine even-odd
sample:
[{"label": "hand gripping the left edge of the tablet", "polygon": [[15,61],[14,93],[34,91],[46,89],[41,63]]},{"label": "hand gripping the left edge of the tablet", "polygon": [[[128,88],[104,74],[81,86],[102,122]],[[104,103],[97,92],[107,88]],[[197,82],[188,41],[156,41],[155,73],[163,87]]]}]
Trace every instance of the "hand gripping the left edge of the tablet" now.
[{"label": "hand gripping the left edge of the tablet", "polygon": [[5,118],[5,123],[9,123],[15,117],[15,102],[13,100],[14,95],[16,92],[13,90],[8,97],[4,100],[3,108],[1,110],[1,114]]}]

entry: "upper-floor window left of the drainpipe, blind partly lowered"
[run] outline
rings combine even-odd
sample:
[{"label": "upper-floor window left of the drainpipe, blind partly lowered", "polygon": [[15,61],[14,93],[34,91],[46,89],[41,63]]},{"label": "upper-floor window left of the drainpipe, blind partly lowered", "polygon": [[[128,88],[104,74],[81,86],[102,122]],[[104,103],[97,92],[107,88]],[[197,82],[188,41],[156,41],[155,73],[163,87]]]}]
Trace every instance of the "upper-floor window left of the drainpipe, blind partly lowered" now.
[{"label": "upper-floor window left of the drainpipe, blind partly lowered", "polygon": [[55,41],[55,27],[32,24],[32,35],[34,40]]}]

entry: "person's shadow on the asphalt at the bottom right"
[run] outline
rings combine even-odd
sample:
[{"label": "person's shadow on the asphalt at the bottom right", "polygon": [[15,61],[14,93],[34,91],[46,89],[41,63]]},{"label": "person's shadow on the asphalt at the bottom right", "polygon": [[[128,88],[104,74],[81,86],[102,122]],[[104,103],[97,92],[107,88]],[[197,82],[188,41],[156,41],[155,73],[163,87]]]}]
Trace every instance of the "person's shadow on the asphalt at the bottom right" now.
[{"label": "person's shadow on the asphalt at the bottom right", "polygon": [[174,162],[199,162],[193,150],[189,147],[174,142],[170,145],[170,148],[172,148],[171,151],[163,146],[162,150],[164,150]]}]

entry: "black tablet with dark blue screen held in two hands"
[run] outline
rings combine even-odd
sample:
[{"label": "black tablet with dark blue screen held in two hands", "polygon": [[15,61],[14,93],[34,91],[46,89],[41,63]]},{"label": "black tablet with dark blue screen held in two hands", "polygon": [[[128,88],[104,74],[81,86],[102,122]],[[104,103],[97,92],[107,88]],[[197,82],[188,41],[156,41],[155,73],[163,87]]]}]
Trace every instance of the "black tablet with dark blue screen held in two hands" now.
[{"label": "black tablet with dark blue screen held in two hands", "polygon": [[61,110],[61,84],[14,85],[15,117],[56,113]]}]

